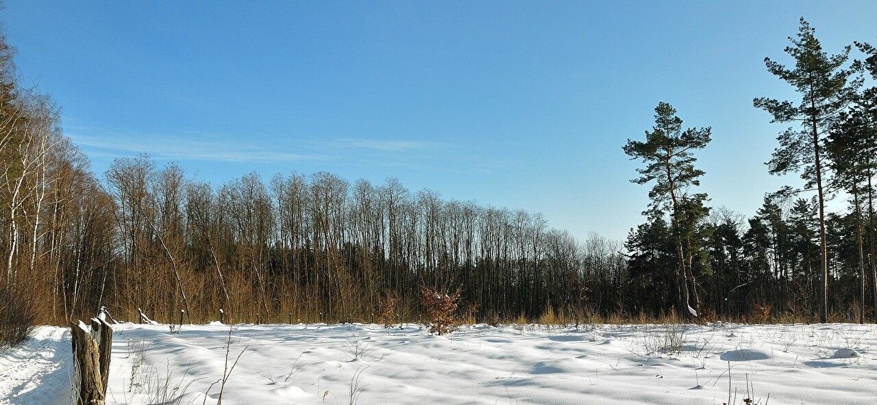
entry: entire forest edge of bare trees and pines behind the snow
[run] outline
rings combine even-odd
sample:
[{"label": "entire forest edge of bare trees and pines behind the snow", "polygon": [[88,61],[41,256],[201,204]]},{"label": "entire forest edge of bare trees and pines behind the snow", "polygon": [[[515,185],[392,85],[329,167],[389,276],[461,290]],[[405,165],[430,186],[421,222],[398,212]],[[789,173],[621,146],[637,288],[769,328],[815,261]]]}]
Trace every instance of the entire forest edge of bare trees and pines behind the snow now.
[{"label": "entire forest edge of bare trees and pines behind the snow", "polygon": [[[170,321],[182,309],[203,322],[222,308],[247,322],[374,322],[388,302],[399,319],[417,319],[429,287],[460,288],[460,312],[478,322],[865,321],[877,311],[877,90],[862,75],[877,77],[877,53],[857,43],[861,60],[849,46],[827,54],[803,20],[791,40],[795,67],[766,66],[801,99],[754,104],[791,125],[768,169],[800,172],[803,187],[766,195],[749,218],[710,209],[695,153],[711,130],[684,128],[660,103],[645,139],[624,146],[644,165],[633,181],[652,185],[646,222],[624,242],[577,240],[538,214],[392,178],[246,174],[214,186],[143,155],[115,160],[98,180],[51,99],[21,86],[2,40],[0,302],[39,323],[101,307],[123,319],[142,309]],[[825,210],[832,195],[849,208]]]}]

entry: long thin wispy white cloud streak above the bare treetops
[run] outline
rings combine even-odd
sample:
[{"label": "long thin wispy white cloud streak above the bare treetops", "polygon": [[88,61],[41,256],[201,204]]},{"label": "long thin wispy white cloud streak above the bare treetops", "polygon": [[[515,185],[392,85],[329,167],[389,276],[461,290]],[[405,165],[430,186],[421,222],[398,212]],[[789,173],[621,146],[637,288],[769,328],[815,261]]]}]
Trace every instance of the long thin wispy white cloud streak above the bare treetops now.
[{"label": "long thin wispy white cloud streak above the bare treetops", "polygon": [[361,167],[400,167],[431,172],[489,172],[506,166],[477,156],[471,147],[413,139],[318,138],[210,133],[153,135],[77,129],[68,133],[89,155],[104,160],[147,153],[158,160],[234,163],[323,162]]}]

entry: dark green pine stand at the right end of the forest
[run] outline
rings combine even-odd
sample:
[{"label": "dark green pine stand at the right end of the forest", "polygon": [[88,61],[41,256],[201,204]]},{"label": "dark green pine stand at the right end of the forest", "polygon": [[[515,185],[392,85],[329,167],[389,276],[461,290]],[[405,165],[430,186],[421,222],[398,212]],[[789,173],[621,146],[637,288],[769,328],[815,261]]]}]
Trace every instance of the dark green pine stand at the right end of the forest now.
[{"label": "dark green pine stand at the right end of the forest", "polygon": [[[734,316],[773,309],[790,318],[877,321],[873,172],[877,151],[877,79],[874,47],[824,51],[801,19],[786,47],[794,66],[770,58],[767,70],[787,82],[795,100],[755,98],[773,123],[786,124],[766,162],[771,174],[800,174],[802,187],[766,195],[755,216],[709,210],[698,192],[703,171],[695,151],[711,130],[682,127],[668,103],[655,109],[645,140],[624,152],[645,164],[633,181],[652,184],[648,222],[631,231],[628,274],[641,305],[674,302],[691,316]],[[836,198],[846,210],[829,212]],[[654,281],[660,288],[653,288]]]}]

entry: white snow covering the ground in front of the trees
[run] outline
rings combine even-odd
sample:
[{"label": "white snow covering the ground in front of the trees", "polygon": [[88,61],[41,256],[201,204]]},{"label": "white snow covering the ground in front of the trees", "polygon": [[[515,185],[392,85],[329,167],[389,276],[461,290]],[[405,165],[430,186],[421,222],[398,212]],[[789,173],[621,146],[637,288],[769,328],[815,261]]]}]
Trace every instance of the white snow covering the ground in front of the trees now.
[{"label": "white snow covering the ground in front of the trees", "polygon": [[[202,404],[205,392],[217,403],[229,326],[114,329],[108,404]],[[475,325],[446,337],[417,325],[231,329],[228,366],[244,352],[227,405],[349,404],[352,389],[363,405],[721,404],[729,366],[735,403],[747,380],[762,404],[877,401],[874,325]],[[68,330],[41,327],[0,354],[0,403],[69,403],[69,345]]]}]

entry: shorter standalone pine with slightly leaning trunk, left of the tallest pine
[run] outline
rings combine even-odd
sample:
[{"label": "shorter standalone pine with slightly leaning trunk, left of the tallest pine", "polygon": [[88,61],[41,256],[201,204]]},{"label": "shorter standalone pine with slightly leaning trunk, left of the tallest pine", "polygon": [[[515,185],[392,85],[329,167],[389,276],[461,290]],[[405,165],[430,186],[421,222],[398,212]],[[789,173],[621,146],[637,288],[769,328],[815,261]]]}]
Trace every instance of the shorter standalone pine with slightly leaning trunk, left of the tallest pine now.
[{"label": "shorter standalone pine with slightly leaning trunk, left of the tallest pine", "polygon": [[[645,131],[645,142],[627,139],[624,153],[641,160],[645,167],[637,169],[637,184],[654,182],[649,191],[649,210],[644,214],[670,216],[671,234],[676,245],[678,267],[676,278],[681,288],[680,310],[697,316],[699,300],[697,283],[692,271],[695,245],[692,243],[696,221],[708,211],[702,203],[705,194],[688,194],[688,188],[700,185],[703,171],[695,168],[693,152],[709,143],[710,128],[688,128],[682,131],[682,119],[669,103],[655,107],[655,124]],[[691,284],[689,286],[689,283]],[[694,302],[691,301],[694,295]]]}]

